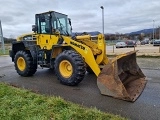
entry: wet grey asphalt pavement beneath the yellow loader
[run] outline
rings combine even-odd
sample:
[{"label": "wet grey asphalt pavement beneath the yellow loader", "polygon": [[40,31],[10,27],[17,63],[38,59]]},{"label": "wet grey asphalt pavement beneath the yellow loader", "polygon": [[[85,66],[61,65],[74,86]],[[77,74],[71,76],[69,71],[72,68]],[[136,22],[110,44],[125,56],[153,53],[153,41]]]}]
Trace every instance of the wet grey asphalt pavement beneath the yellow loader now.
[{"label": "wet grey asphalt pavement beneath the yellow loader", "polygon": [[37,93],[60,96],[65,100],[87,107],[118,114],[133,120],[160,119],[160,61],[159,59],[137,59],[148,83],[134,103],[126,102],[100,94],[96,85],[96,76],[86,74],[84,80],[75,87],[60,84],[54,71],[38,68],[32,77],[19,76],[9,57],[0,57],[0,81],[13,86],[29,89]]}]

